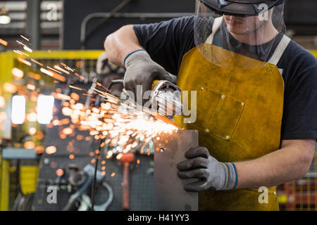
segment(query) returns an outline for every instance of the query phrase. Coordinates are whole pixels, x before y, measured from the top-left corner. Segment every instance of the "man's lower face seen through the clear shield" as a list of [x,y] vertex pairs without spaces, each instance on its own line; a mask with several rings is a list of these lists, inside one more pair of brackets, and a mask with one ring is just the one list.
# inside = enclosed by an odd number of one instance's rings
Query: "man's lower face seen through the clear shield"
[[259,16],[249,16],[243,18],[235,15],[223,15],[225,23],[227,24],[228,30],[234,34],[249,34],[266,23],[265,20],[260,20]]

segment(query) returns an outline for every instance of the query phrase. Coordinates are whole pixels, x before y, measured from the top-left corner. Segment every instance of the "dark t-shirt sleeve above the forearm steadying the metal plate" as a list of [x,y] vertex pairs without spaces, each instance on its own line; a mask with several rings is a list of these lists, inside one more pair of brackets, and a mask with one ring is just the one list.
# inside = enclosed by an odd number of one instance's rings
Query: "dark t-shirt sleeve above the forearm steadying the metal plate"
[[282,139],[317,139],[317,60],[300,48],[286,71]]

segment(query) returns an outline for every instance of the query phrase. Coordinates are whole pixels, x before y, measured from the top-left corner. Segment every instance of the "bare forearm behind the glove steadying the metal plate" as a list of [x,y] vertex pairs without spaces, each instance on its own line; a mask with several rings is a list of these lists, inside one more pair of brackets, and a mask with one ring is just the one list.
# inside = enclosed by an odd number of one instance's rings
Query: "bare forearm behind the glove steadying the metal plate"
[[314,142],[314,140],[311,141],[310,145],[303,142],[300,143],[302,146],[282,146],[280,150],[263,155],[261,158],[235,162],[238,176],[237,188],[277,186],[301,178],[311,165]]

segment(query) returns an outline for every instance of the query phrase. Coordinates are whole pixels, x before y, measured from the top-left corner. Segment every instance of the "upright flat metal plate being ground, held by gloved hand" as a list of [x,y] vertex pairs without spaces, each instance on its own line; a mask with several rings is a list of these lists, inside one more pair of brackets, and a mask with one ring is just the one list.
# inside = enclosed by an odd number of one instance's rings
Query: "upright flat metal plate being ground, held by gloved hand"
[[186,160],[189,148],[198,146],[197,130],[178,130],[161,134],[154,141],[154,210],[197,211],[198,193],[184,190],[183,184],[196,179],[181,180],[179,162]]

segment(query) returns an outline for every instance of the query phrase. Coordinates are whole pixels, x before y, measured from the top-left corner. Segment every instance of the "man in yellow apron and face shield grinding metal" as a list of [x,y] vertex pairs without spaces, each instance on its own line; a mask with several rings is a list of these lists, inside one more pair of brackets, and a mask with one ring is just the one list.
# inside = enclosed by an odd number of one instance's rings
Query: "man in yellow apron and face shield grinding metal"
[[[308,171],[317,137],[317,62],[286,37],[284,2],[201,0],[197,15],[127,25],[106,38],[125,89],[178,75],[197,91],[199,146],[178,165],[199,210],[278,210],[275,186]],[[261,200],[259,187],[268,187]]]

